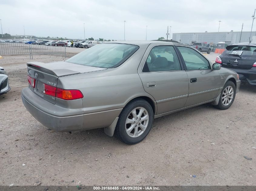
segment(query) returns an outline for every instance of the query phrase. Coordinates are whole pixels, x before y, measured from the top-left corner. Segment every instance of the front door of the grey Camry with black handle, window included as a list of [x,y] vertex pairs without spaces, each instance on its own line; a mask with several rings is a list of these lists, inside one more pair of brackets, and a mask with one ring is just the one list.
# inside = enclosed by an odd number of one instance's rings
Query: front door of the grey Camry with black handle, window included
[[185,107],[213,100],[219,91],[220,75],[210,63],[192,48],[177,46],[185,63],[189,79],[188,100]]

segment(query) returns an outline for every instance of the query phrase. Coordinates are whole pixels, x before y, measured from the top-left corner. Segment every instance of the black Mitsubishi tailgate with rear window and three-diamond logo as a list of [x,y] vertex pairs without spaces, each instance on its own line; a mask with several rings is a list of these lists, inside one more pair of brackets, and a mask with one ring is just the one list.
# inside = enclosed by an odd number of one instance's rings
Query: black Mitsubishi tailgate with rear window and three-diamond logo
[[221,60],[225,68],[251,69],[256,61],[256,46],[229,45],[221,54]]

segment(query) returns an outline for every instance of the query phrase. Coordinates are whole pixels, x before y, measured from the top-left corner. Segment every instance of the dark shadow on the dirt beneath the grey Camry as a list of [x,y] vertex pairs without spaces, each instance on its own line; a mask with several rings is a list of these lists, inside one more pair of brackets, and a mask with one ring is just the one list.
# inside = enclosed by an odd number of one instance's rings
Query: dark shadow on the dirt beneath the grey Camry
[[[179,124],[181,121],[185,123],[186,119],[191,117],[191,115],[202,116],[206,111],[218,112],[218,110],[215,109],[211,104],[204,104],[157,118],[154,120],[152,129],[148,136],[138,144],[144,144],[148,141],[155,142],[155,140],[161,139],[162,133],[165,132],[166,134],[166,131],[170,131],[171,134],[178,133],[180,128],[183,127],[178,126],[177,124]],[[41,124],[39,126],[41,126],[41,128],[45,128]],[[113,146],[118,148],[133,148],[132,145],[122,143],[115,134],[113,137],[109,137],[104,133],[103,128],[72,132],[71,134],[69,132],[48,133],[46,128],[45,130],[42,130],[41,128],[38,129],[40,132],[36,133],[34,136],[44,134],[44,138],[46,139],[45,141],[52,144],[52,148],[57,146],[59,149],[64,150],[69,148],[70,151],[76,148],[82,148],[82,150],[86,150],[86,152],[95,152],[95,148],[111,148]]]

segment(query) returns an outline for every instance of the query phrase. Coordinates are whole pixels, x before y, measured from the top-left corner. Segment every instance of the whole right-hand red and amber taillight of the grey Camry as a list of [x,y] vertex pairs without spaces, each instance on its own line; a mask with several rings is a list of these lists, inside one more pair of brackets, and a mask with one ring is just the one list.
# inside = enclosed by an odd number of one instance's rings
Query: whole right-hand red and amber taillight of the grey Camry
[[44,84],[44,94],[52,97],[57,97],[62,100],[76,100],[83,98],[83,94],[80,90],[63,90],[61,88],[56,88],[48,84]]

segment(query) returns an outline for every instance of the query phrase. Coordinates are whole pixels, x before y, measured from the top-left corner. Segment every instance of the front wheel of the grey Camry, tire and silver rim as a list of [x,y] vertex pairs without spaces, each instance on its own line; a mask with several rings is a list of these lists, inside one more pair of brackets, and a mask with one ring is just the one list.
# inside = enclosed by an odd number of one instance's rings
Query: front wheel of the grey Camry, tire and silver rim
[[236,96],[236,87],[232,81],[227,81],[221,91],[221,97],[217,107],[220,110],[228,109],[234,102]]

